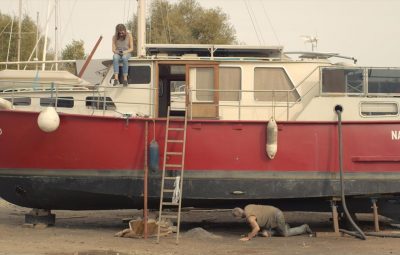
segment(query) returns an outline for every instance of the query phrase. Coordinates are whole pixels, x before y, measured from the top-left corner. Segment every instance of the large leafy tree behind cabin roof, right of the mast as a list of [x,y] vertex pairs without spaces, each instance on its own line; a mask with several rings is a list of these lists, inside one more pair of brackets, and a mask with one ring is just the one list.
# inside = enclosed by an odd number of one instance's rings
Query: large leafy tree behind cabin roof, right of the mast
[[[137,17],[127,27],[136,35]],[[236,44],[236,32],[220,8],[205,9],[196,0],[171,4],[153,1],[147,20],[148,43]]]

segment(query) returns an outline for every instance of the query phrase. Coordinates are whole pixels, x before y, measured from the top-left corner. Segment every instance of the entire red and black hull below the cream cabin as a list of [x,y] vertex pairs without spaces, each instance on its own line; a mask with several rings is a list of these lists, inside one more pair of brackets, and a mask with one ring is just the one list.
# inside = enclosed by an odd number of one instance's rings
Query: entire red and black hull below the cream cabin
[[[154,136],[151,119],[63,114],[58,130],[44,133],[37,116],[0,112],[0,196],[33,208],[142,208],[145,123],[147,140],[155,137],[162,162],[164,119],[155,121]],[[278,123],[272,160],[265,152],[266,124],[189,121],[183,205],[230,207],[289,199],[291,209],[329,210],[326,199],[340,194],[337,124]],[[343,124],[346,194],[400,194],[397,130],[400,122]],[[150,171],[148,183],[149,205],[157,208],[160,171]],[[363,205],[357,211],[370,209]]]

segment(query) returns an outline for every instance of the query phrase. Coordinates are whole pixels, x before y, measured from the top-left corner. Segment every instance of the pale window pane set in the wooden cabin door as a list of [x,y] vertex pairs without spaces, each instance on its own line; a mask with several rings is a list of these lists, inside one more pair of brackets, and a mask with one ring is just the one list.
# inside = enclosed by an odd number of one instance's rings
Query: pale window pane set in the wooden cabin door
[[214,68],[196,68],[196,99],[199,101],[214,100]]

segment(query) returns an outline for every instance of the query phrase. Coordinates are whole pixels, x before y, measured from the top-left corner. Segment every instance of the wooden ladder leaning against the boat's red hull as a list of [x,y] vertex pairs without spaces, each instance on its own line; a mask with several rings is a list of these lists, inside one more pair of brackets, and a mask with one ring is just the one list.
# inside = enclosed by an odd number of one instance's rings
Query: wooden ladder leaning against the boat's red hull
[[[185,165],[187,109],[185,108],[184,117],[176,117],[171,116],[171,107],[168,107],[166,125],[157,243],[160,242],[161,222],[165,219],[176,219],[176,244],[178,244],[181,221],[183,172]],[[172,146],[173,144],[178,145]],[[167,158],[169,158],[168,161],[172,161],[172,163],[168,163]],[[166,172],[169,174],[166,175]],[[171,176],[172,173],[175,173],[175,176]],[[166,196],[166,194],[172,196]],[[166,197],[169,198],[170,201],[166,201]],[[164,211],[164,206],[168,208],[177,207],[177,210],[176,212],[166,212]]]

